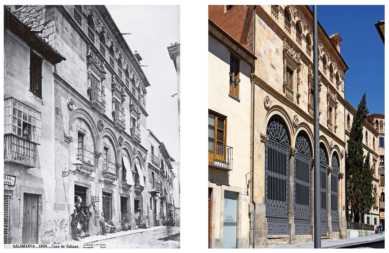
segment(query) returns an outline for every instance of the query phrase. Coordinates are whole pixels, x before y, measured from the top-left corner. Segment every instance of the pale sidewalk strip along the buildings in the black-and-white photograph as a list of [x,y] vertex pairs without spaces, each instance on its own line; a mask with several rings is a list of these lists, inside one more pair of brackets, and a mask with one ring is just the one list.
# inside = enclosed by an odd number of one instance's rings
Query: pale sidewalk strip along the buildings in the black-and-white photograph
[[138,228],[134,230],[127,230],[127,231],[120,231],[112,234],[107,234],[107,235],[92,235],[89,237],[85,237],[84,239],[81,239],[80,241],[67,241],[67,242],[62,242],[61,244],[58,245],[67,245],[71,244],[72,246],[79,246],[79,248],[82,248],[84,244],[90,244],[93,242],[98,242],[110,238],[115,238],[115,237],[121,237],[124,235],[130,235],[130,234],[137,234],[137,233],[143,233],[147,231],[152,231],[152,230],[165,230],[167,229],[168,226],[156,226],[156,227],[151,227],[151,228]]

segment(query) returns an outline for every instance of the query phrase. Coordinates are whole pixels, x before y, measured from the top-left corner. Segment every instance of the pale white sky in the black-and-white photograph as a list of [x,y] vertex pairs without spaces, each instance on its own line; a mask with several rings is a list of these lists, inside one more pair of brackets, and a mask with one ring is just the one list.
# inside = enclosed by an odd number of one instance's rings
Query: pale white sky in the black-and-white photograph
[[167,46],[180,43],[179,5],[106,5],[112,18],[141,65],[151,86],[147,88],[146,128],[163,142],[179,161],[177,73]]

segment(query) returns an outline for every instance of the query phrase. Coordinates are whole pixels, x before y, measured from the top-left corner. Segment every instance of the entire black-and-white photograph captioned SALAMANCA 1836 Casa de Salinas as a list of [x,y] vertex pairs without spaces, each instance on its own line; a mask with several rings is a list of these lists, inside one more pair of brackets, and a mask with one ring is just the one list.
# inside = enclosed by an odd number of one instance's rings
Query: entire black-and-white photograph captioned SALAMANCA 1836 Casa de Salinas
[[179,119],[179,5],[4,5],[4,248],[180,248]]

